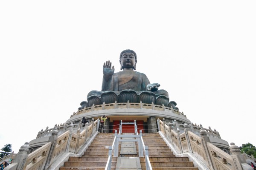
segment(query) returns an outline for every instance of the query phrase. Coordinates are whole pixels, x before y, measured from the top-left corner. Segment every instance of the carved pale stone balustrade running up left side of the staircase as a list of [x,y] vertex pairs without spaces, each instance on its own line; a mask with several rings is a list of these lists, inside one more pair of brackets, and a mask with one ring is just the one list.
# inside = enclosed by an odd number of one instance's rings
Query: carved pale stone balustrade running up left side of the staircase
[[[49,141],[32,153],[29,153],[29,143],[26,142],[20,147],[13,164],[6,167],[6,170],[45,170],[64,153],[78,153],[82,146],[97,133],[99,120],[92,119],[90,125],[85,124],[84,130],[80,130],[81,122],[74,127],[73,123],[65,125],[66,132],[58,135],[58,128],[47,130],[41,135],[51,132]],[[78,127],[78,128],[77,128]],[[76,132],[74,132],[76,129]],[[39,135],[40,136],[40,135]],[[29,153],[29,154],[28,154]]]

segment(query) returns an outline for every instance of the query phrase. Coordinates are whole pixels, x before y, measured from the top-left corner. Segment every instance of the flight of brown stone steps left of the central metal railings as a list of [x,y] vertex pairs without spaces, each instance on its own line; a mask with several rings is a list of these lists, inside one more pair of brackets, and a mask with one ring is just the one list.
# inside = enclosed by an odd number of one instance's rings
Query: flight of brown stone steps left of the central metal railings
[[[113,144],[113,133],[99,133],[81,157],[70,157],[59,170],[105,170],[108,146]],[[119,149],[120,150],[120,149]],[[112,159],[111,170],[116,169],[117,157]]]

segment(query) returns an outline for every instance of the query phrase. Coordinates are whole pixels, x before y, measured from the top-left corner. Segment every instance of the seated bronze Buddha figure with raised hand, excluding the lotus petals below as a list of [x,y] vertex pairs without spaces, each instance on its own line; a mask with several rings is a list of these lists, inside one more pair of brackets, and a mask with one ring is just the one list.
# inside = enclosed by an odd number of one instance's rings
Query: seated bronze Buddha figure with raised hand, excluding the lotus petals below
[[103,65],[102,91],[90,91],[87,98],[96,95],[101,96],[105,91],[114,91],[119,94],[122,90],[134,90],[137,94],[142,91],[151,91],[155,96],[164,95],[169,97],[165,90],[158,90],[160,84],[150,84],[148,77],[136,70],[137,55],[132,50],[124,50],[120,54],[119,62],[121,70],[114,73],[115,68],[110,61],[106,61]]

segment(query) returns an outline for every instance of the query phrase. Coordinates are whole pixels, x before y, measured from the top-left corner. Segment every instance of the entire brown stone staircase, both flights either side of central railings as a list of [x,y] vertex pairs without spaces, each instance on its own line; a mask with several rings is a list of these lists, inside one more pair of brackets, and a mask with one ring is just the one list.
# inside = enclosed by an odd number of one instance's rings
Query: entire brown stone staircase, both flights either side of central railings
[[[113,144],[113,133],[99,133],[81,157],[70,157],[59,170],[105,170],[108,146]],[[144,133],[148,155],[153,170],[198,170],[187,157],[176,157],[158,133]],[[121,142],[119,142],[120,156]],[[138,150],[137,142],[136,148]],[[136,155],[124,155],[133,157]],[[123,156],[123,157],[124,157]],[[138,155],[137,155],[138,156]],[[111,170],[116,169],[117,157],[113,157]],[[140,158],[141,170],[146,170],[145,158]]]

